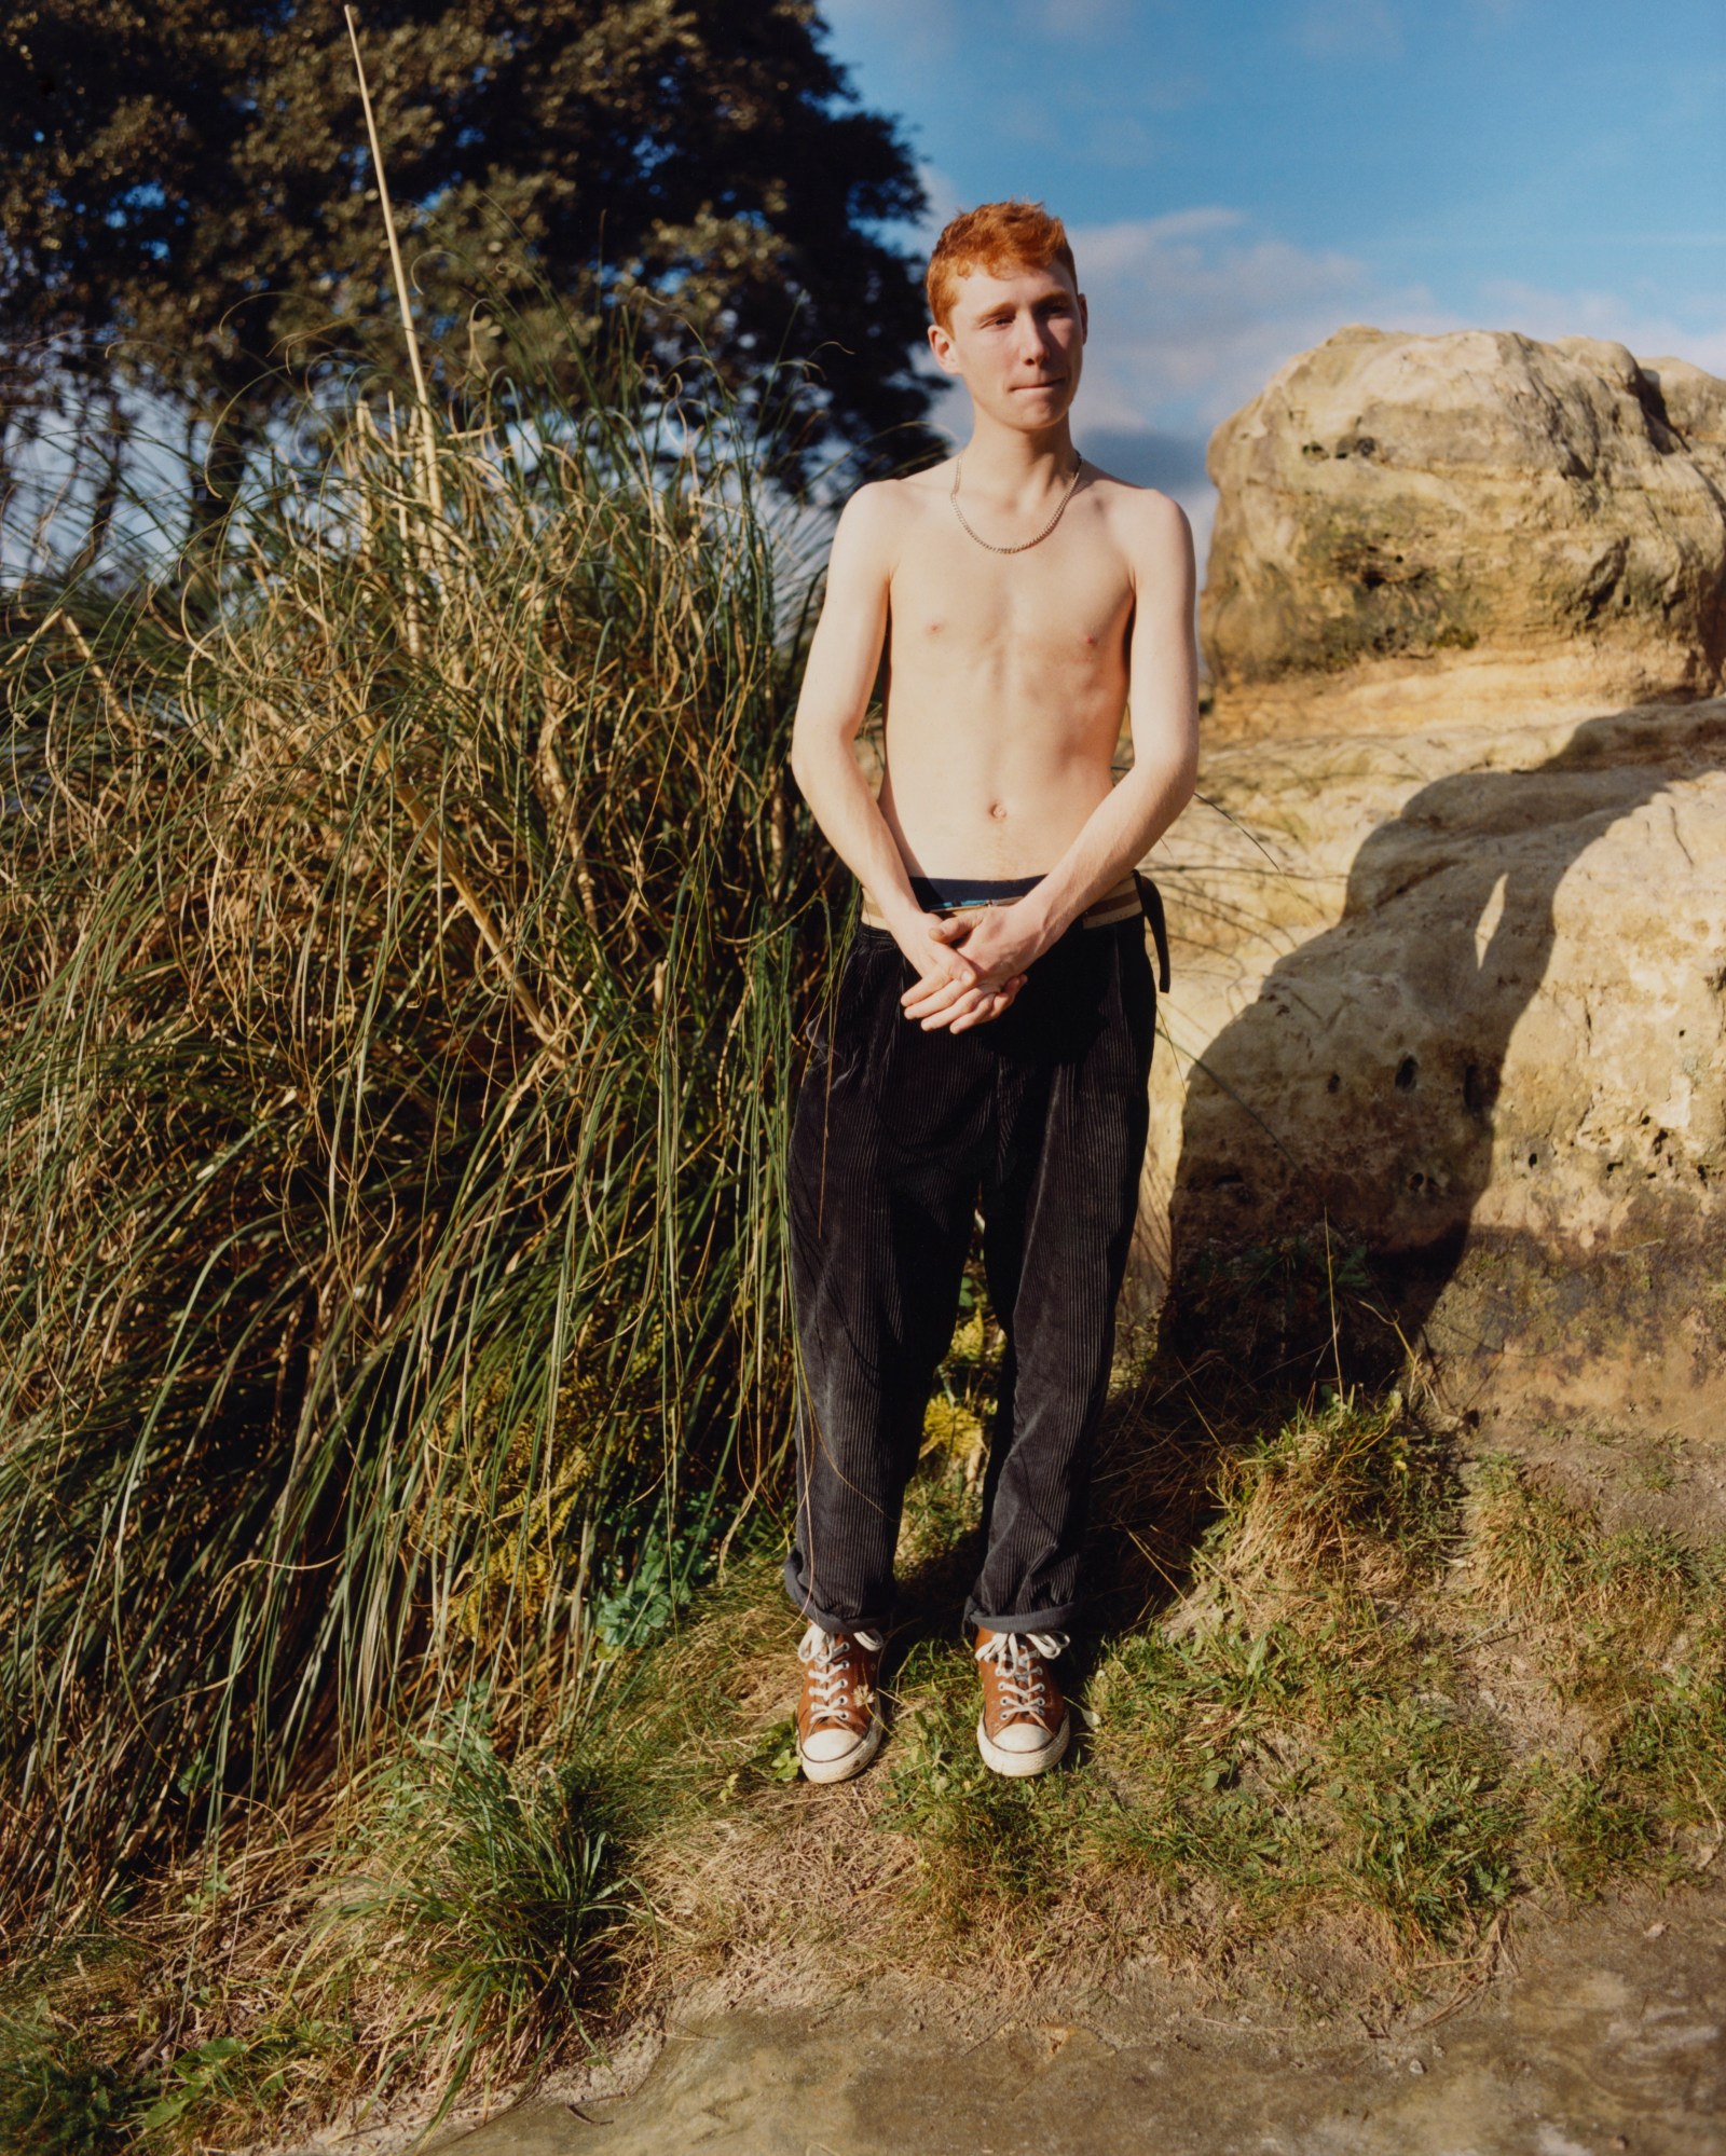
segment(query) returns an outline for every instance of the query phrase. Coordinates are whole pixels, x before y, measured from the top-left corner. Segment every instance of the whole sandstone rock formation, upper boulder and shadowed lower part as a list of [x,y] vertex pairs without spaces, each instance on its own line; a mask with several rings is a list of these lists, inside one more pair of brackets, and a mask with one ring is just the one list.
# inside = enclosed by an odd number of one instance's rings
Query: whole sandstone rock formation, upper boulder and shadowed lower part
[[1726,1423],[1726,384],[1342,330],[1213,472],[1141,1289],[1329,1222],[1452,1371]]

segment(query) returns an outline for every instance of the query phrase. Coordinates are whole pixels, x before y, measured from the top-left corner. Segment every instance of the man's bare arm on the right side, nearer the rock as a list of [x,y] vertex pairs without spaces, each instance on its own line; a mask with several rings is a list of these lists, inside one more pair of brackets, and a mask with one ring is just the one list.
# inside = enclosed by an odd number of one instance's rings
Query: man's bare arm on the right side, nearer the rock
[[[1128,724],[1133,770],[1085,817],[1072,845],[1036,890],[1016,906],[990,910],[964,938],[988,990],[1023,975],[1066,929],[1137,867],[1193,798],[1200,752],[1197,651],[1193,649],[1193,533],[1176,502],[1161,494],[1133,505],[1131,561],[1135,580],[1128,647]],[[906,1013],[947,1024],[962,994],[919,983]]]

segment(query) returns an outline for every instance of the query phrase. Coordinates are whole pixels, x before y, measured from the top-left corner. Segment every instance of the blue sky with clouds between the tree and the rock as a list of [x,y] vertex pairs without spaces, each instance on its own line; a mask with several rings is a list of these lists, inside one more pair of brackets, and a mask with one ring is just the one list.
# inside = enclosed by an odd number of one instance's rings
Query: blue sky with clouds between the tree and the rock
[[1066,218],[1092,302],[1077,438],[1206,524],[1210,429],[1348,321],[1612,336],[1726,373],[1722,0],[822,15],[936,222],[1003,194]]

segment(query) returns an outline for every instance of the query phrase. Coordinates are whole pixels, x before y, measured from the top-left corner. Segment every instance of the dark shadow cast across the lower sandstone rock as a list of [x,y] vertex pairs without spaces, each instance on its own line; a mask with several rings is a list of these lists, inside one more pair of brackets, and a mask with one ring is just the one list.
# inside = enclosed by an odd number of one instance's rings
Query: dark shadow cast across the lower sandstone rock
[[[1458,1315],[1446,1296],[1465,1257],[1478,1274],[1504,1259],[1474,1235],[1495,1162],[1547,1166],[1551,1136],[1515,1128],[1504,1063],[1547,977],[1558,888],[1674,776],[1722,765],[1713,703],[1590,718],[1538,765],[1420,787],[1361,843],[1335,927],[1282,957],[1193,1065],[1156,1358],[1105,1440],[1111,1617],[1178,1583],[1217,1453],[1249,1434],[1243,1406],[1264,1427],[1327,1380],[1385,1378],[1433,1345],[1435,1313],[1448,1358],[1502,1348],[1515,1266],[1497,1307],[1471,1291]],[[1562,1274],[1549,1326],[1599,1291]]]

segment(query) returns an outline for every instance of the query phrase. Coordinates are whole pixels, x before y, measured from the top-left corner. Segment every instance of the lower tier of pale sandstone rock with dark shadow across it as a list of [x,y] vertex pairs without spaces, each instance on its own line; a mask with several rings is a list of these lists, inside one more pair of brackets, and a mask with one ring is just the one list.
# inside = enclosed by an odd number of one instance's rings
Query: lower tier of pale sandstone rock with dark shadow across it
[[1230,744],[1204,791],[1236,821],[1189,811],[1156,871],[1150,1276],[1329,1220],[1441,1356],[1707,1382],[1726,701]]

